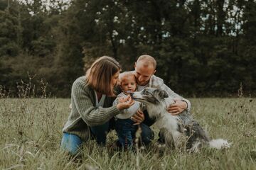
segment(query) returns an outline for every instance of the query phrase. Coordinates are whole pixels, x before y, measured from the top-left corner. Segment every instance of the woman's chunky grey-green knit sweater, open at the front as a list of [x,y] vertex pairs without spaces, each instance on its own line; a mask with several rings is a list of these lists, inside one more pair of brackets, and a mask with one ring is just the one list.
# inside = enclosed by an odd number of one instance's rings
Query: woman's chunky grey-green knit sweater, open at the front
[[114,97],[106,96],[104,106],[96,108],[94,89],[87,85],[85,76],[75,80],[71,91],[72,110],[63,132],[78,135],[83,141],[90,138],[89,126],[102,125],[119,114],[117,106],[112,106]]

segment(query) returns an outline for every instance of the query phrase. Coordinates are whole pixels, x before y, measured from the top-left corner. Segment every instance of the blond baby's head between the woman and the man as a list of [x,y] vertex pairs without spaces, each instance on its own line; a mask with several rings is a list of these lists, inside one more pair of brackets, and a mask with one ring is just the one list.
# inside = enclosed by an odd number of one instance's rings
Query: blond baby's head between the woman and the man
[[119,74],[120,87],[122,91],[134,92],[137,88],[136,79],[132,72],[123,72]]

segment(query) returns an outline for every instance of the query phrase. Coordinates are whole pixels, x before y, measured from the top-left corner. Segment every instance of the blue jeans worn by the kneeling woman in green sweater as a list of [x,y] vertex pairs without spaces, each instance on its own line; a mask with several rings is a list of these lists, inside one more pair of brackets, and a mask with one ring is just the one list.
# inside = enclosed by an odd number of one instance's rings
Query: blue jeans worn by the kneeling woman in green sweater
[[[90,127],[92,138],[95,138],[97,144],[106,144],[107,132],[110,131],[109,126],[110,122],[107,122],[103,125]],[[82,147],[83,142],[85,141],[82,141],[82,139],[78,137],[78,135],[63,132],[61,148],[63,148],[65,151],[68,151],[70,154],[75,155],[80,150],[80,147]]]

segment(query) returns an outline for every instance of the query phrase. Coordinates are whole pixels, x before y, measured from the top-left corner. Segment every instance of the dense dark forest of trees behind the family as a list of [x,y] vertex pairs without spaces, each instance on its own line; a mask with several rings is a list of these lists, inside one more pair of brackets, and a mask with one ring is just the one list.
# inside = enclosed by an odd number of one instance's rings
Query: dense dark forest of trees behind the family
[[255,96],[256,1],[0,0],[0,91],[10,96],[32,82],[69,97],[95,58],[132,70],[142,54],[183,96]]

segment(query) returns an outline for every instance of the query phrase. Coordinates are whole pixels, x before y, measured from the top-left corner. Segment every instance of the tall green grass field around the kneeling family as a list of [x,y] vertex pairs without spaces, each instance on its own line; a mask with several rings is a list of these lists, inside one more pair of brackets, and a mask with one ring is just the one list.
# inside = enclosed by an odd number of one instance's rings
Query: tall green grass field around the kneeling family
[[[256,99],[191,98],[192,114],[230,149],[188,154],[159,149],[155,138],[139,152],[114,152],[86,142],[80,161],[60,150],[69,99],[0,99],[0,169],[256,169]],[[110,132],[107,145],[117,139]]]

